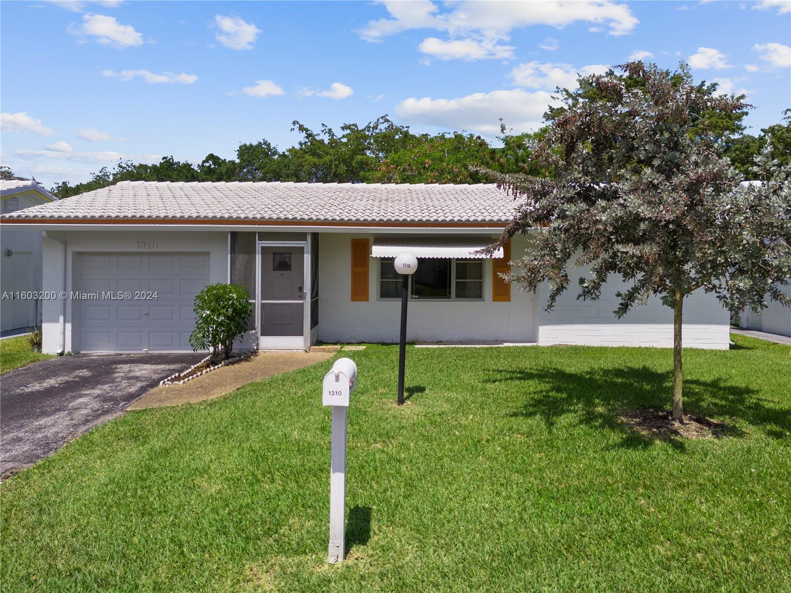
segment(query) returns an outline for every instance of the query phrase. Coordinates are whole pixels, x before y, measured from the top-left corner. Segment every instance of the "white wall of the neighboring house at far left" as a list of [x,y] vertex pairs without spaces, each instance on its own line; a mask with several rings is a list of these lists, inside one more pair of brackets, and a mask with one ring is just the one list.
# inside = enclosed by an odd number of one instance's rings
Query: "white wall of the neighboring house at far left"
[[[47,202],[37,191],[25,191],[10,197],[17,198],[17,210]],[[6,213],[6,199],[2,200],[2,213]],[[13,251],[14,255],[7,256],[8,249]],[[14,266],[15,258],[24,258],[25,263],[22,266]],[[41,231],[9,229],[7,225],[0,227],[0,295],[22,290],[39,292],[42,278],[41,265]],[[41,312],[39,312],[40,316]],[[23,318],[25,320],[20,321]],[[32,300],[13,304],[9,300],[3,300],[0,302],[0,319],[2,319],[0,330],[17,329],[37,323],[36,304]]]

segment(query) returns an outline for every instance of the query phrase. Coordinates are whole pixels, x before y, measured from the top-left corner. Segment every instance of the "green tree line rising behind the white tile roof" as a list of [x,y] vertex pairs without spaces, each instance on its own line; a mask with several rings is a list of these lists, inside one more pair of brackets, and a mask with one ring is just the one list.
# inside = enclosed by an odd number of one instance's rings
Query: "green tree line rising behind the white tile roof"
[[[574,101],[596,97],[598,90],[586,88],[558,90]],[[642,81],[626,76],[625,88],[639,89]],[[702,82],[702,93],[714,95],[717,85]],[[596,97],[598,98],[598,97]],[[736,99],[744,100],[744,96]],[[607,100],[602,97],[601,100]],[[781,164],[791,161],[791,109],[784,112],[782,123],[763,128],[758,135],[745,134],[744,110],[733,113],[705,111],[694,114],[707,134],[715,130],[725,142],[725,155],[734,167],[751,179],[753,159],[760,153],[766,138],[771,138],[772,157]],[[551,125],[566,108],[550,108],[544,115]],[[224,159],[210,153],[199,164],[163,157],[157,164],[119,161],[112,169],[104,167],[85,183],[57,183],[52,193],[67,198],[85,191],[107,187],[119,181],[293,181],[324,183],[483,183],[481,171],[505,175],[551,176],[542,171],[531,157],[528,145],[546,134],[547,128],[532,134],[513,134],[501,124],[497,145],[469,133],[414,134],[408,126],[399,126],[388,115],[360,127],[346,123],[336,132],[322,125],[311,130],[294,121],[292,131],[301,135],[295,146],[280,150],[266,139],[240,144],[236,159]],[[692,134],[694,134],[694,130]]]

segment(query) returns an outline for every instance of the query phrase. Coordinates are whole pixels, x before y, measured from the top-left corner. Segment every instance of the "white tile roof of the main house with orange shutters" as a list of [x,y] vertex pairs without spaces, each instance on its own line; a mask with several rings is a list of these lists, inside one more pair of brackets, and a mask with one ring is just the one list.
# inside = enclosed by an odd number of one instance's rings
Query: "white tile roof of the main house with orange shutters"
[[3,218],[501,223],[515,207],[494,184],[122,181]]

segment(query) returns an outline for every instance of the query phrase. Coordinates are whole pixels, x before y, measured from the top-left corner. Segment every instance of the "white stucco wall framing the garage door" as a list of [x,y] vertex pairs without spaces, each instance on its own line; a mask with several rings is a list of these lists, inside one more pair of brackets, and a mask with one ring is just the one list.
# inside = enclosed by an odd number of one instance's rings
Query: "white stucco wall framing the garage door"
[[[228,281],[228,233],[190,232],[190,231],[142,231],[142,232],[106,232],[106,231],[51,231],[49,236],[57,236],[66,240],[66,293],[78,290],[76,265],[79,255],[85,252],[165,252],[165,251],[208,251],[210,253],[210,282]],[[157,243],[156,249],[139,248],[138,243]],[[59,293],[64,290],[63,259],[61,244],[51,238],[44,239],[44,292]],[[74,310],[73,305],[74,304]],[[77,304],[66,300],[66,352],[78,351],[76,340],[78,331],[73,327],[72,320]],[[44,301],[44,352],[56,353],[60,349],[59,318],[61,301]]]

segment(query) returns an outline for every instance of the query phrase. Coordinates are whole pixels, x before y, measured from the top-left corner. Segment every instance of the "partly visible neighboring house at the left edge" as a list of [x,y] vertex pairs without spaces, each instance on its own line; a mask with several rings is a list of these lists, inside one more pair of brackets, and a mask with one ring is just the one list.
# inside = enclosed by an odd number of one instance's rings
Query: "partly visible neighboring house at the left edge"
[[[58,198],[37,181],[0,180],[0,213],[9,214],[54,202]],[[26,228],[0,232],[0,296],[41,290],[41,232]],[[39,313],[40,316],[40,313]],[[36,301],[30,298],[0,300],[0,330],[31,327],[36,319]]]

